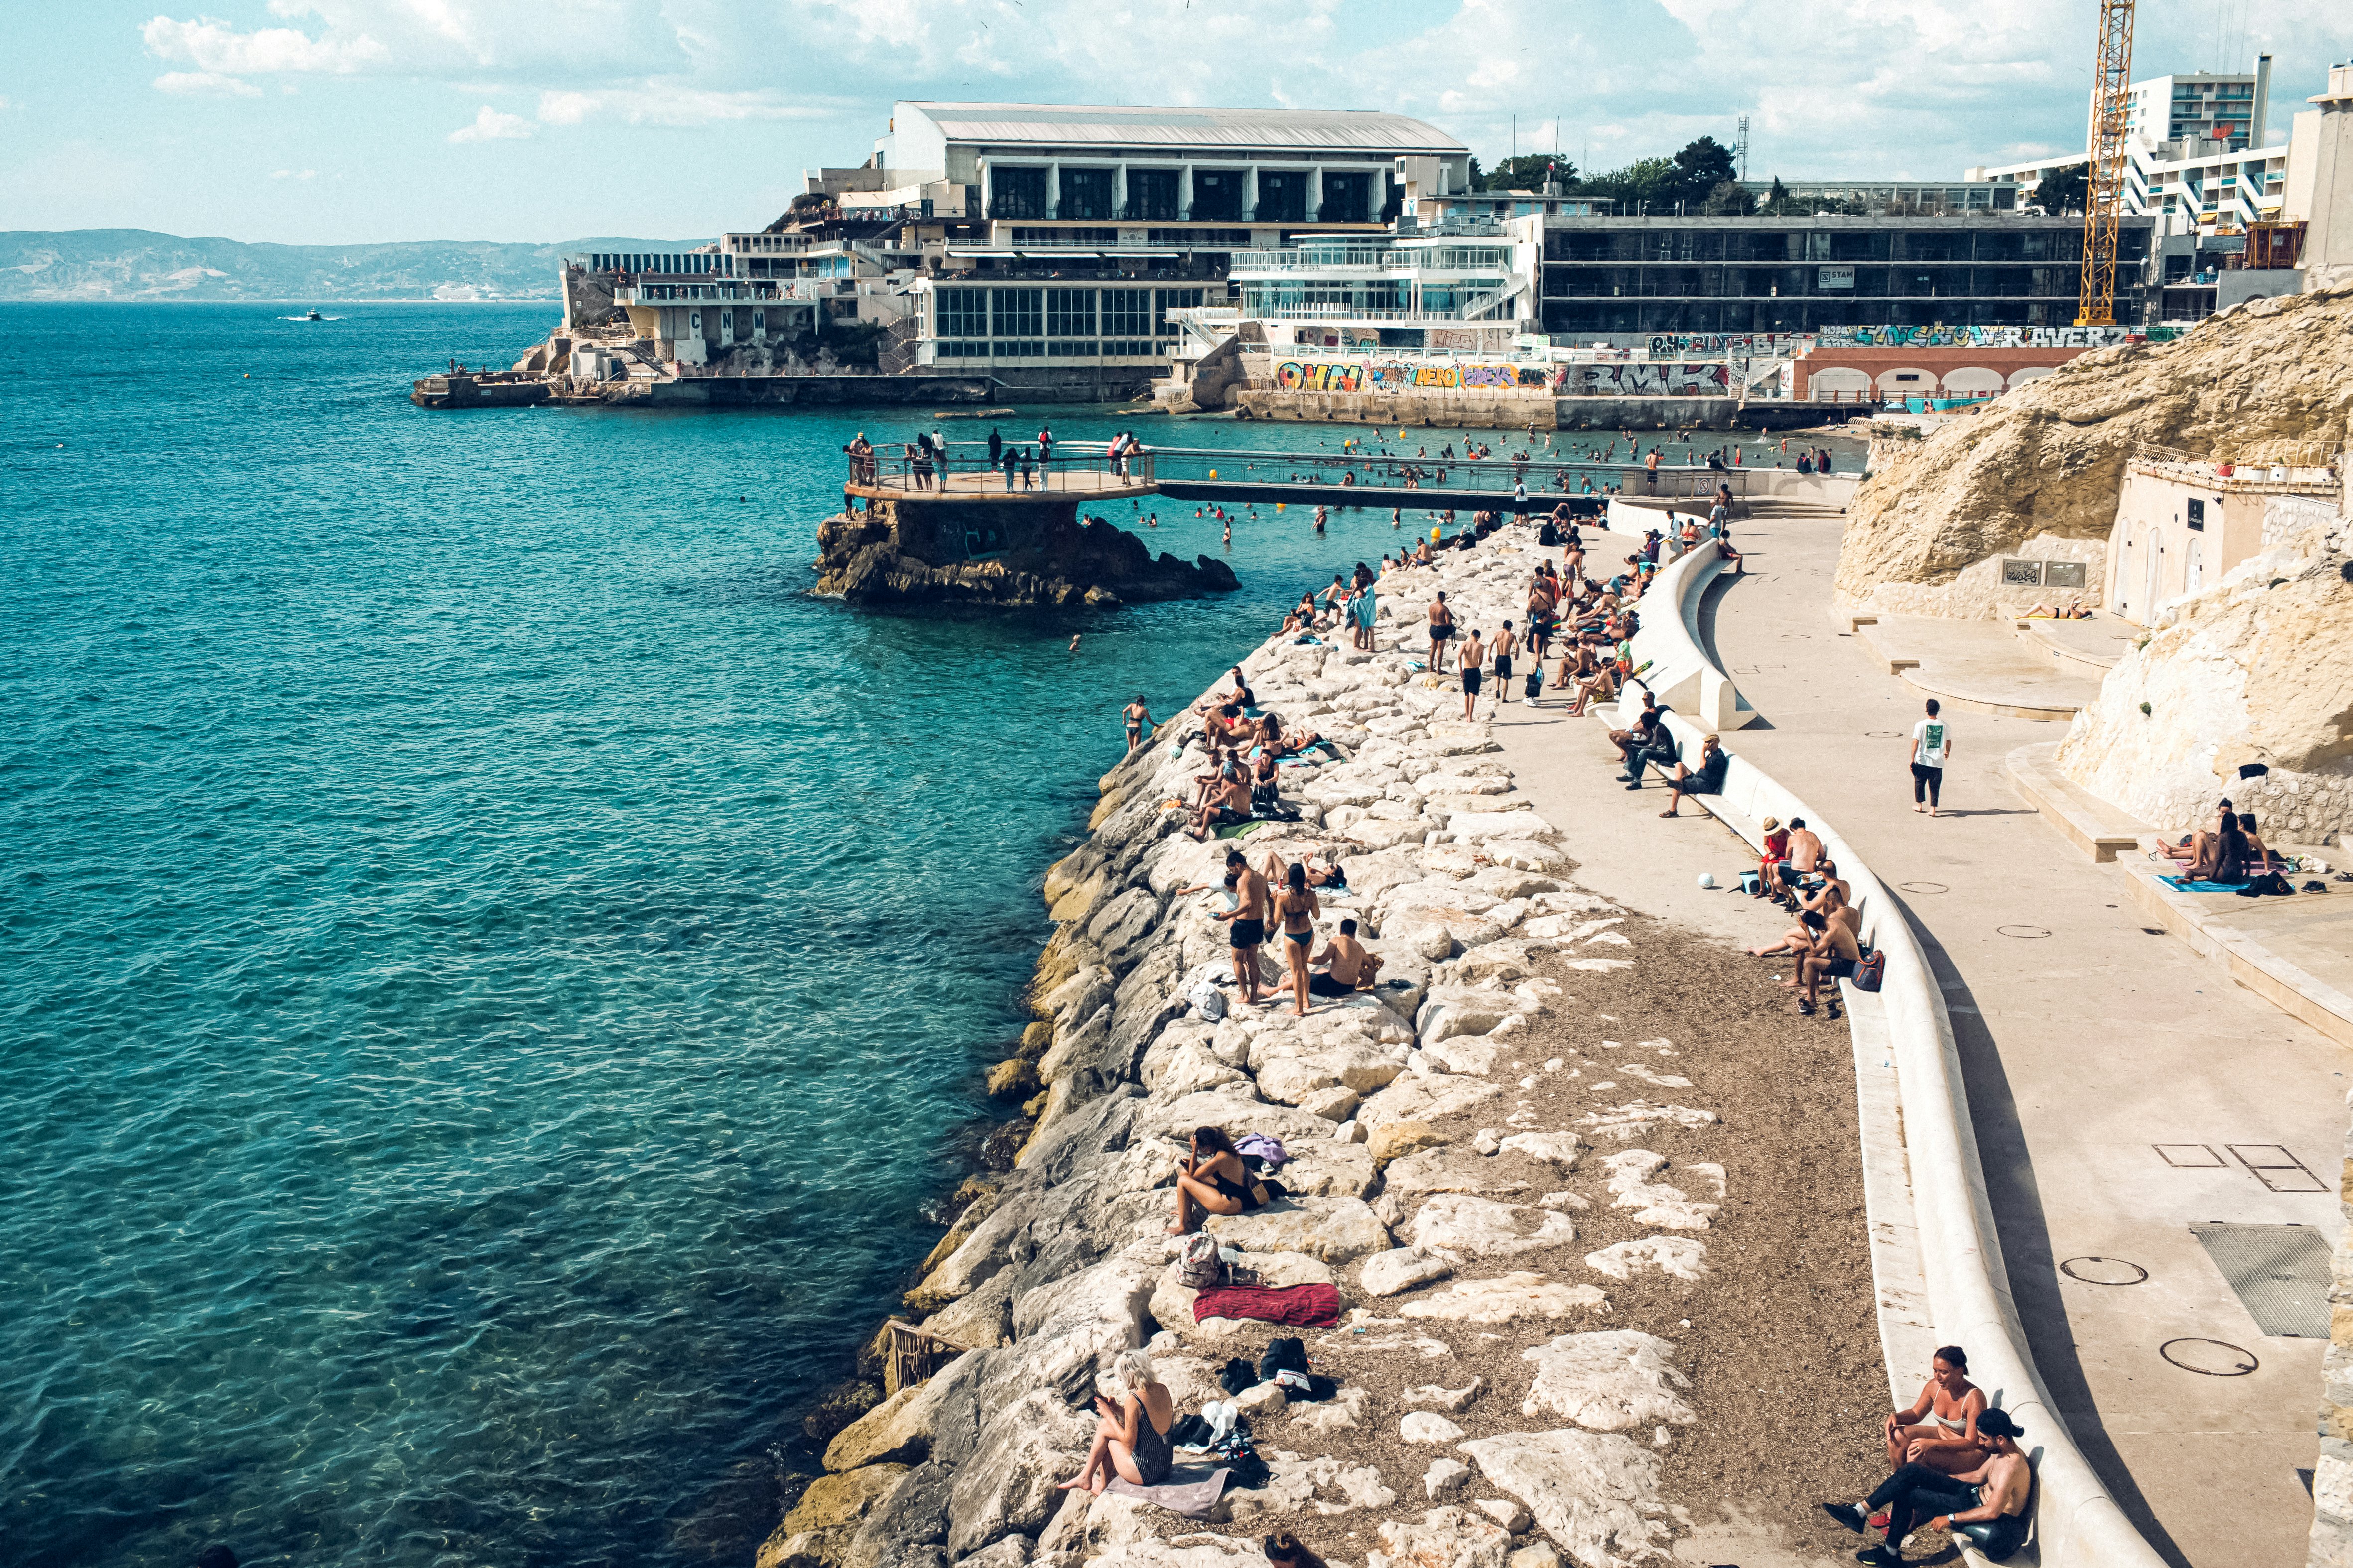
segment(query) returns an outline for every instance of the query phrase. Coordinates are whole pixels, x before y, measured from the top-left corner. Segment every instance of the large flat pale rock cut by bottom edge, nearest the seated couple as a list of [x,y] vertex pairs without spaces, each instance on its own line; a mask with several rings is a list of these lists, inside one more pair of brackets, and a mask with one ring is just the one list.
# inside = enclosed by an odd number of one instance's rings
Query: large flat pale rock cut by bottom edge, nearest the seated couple
[[1457,1450],[1471,1455],[1489,1486],[1525,1502],[1584,1568],[1654,1561],[1673,1537],[1659,1500],[1659,1458],[1617,1432],[1508,1432]]

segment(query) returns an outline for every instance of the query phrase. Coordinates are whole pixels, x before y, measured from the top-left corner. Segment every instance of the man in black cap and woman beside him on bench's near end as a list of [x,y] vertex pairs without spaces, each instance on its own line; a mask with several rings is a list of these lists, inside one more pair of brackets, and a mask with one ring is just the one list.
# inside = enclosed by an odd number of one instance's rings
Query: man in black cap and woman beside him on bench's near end
[[2026,1429],[1969,1382],[1960,1345],[1934,1354],[1920,1399],[1889,1410],[1880,1434],[1887,1481],[1861,1502],[1821,1505],[1857,1535],[1882,1530],[1880,1544],[1859,1552],[1857,1561],[1897,1568],[1913,1530],[1967,1533],[1995,1563],[2026,1544],[2035,1490],[2033,1467],[2019,1448]]

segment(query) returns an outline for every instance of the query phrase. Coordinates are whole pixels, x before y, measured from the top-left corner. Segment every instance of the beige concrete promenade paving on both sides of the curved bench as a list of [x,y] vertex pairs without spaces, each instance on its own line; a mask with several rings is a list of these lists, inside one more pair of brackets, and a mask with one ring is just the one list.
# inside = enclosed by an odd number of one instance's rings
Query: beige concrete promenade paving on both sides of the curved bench
[[[2311,1225],[2334,1246],[2353,1051],[2148,933],[2125,870],[2089,863],[2019,799],[2002,757],[2059,724],[1958,715],[1946,816],[1911,811],[1922,693],[1833,628],[1838,529],[1739,529],[1748,576],[1722,581],[1701,632],[1760,722],[1725,745],[1828,813],[1908,900],[1960,1046],[2009,1288],[2104,1483],[2169,1561],[2301,1561],[2325,1340],[2266,1338],[2188,1227]],[[1579,879],[1706,931],[1777,936],[1777,910],[1694,886],[1701,870],[1729,882],[1746,846],[1694,809],[1659,820],[1666,790],[1614,783],[1605,729],[1520,705],[1497,726],[1520,788],[1581,856]],[[2320,1192],[2275,1192],[2228,1145],[2287,1147]],[[2224,1347],[2259,1366],[2214,1375],[2242,1363]]]

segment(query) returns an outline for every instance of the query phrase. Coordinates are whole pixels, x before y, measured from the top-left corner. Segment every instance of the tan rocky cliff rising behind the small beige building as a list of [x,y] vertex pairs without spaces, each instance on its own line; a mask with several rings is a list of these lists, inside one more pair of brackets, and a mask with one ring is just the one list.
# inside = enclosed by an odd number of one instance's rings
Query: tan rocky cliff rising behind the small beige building
[[2353,287],[2254,301],[2172,343],[2087,353],[1925,442],[1875,447],[1847,505],[1840,607],[2024,609],[2042,590],[2005,597],[1998,555],[2082,559],[2097,585],[2139,442],[2240,463],[2341,451],[2353,442]]

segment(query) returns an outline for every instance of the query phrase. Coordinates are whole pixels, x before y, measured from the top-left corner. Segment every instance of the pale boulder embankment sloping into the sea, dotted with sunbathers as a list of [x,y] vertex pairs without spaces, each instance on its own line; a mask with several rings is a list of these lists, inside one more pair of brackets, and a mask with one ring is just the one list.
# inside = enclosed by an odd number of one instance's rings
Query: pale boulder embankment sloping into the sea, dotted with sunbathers
[[[991,1077],[1000,1093],[1035,1088],[1033,1128],[1009,1173],[967,1182],[906,1295],[908,1321],[967,1349],[831,1439],[828,1474],[760,1568],[1264,1568],[1266,1528],[1301,1530],[1334,1568],[1355,1554],[1367,1568],[1617,1568],[1692,1533],[1673,1472],[1708,1453],[1692,1427],[1704,1410],[1715,1422],[1715,1401],[1694,1389],[1718,1382],[1694,1319],[1755,1288],[1739,1272],[1718,1284],[1708,1258],[1753,1206],[1727,1197],[1725,1128],[1694,1103],[1689,1044],[1595,1011],[1607,987],[1626,992],[1642,922],[1569,882],[1560,832],[1515,788],[1492,726],[1459,722],[1459,684],[1395,646],[1435,588],[1464,625],[1518,618],[1537,552],[1515,534],[1393,576],[1379,654],[1278,637],[1242,661],[1264,708],[1346,759],[1287,769],[1301,820],[1240,849],[1346,863],[1351,891],[1325,900],[1322,924],[1353,914],[1374,933],[1377,992],[1306,1018],[1287,1001],[1195,1016],[1195,985],[1228,973],[1226,933],[1176,889],[1214,884],[1233,846],[1179,830],[1172,802],[1202,752],[1162,736],[1104,776],[1092,837],[1045,879],[1056,931],[1035,1023]],[[1586,983],[1595,994],[1574,1011],[1567,987]],[[1842,1032],[1833,1046],[1835,1065]],[[1268,1284],[1334,1284],[1346,1316],[1304,1331],[1339,1396],[1240,1394],[1271,1476],[1193,1521],[1054,1483],[1075,1474],[1120,1352],[1146,1347],[1188,1413],[1228,1399],[1228,1356],[1292,1333],[1195,1321],[1176,1281],[1162,1182],[1202,1124],[1292,1154],[1289,1199],[1209,1229]],[[1861,1258],[1859,1197],[1828,1199],[1824,1218],[1831,1246]],[[1802,1314],[1814,1284],[1784,1286]],[[1845,1338],[1805,1352],[1840,1363],[1812,1403],[1885,1387],[1868,1265],[1857,1302],[1824,1305]],[[1734,1373],[1734,1399],[1755,1375]]]

